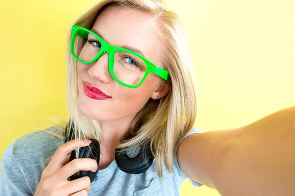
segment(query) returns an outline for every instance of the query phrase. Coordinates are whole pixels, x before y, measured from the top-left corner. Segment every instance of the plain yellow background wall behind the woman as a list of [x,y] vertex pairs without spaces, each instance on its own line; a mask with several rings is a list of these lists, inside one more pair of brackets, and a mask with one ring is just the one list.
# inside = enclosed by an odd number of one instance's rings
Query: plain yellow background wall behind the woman
[[[95,0],[0,3],[0,156],[17,137],[66,119],[66,30]],[[294,0],[166,0],[182,19],[198,82],[195,125],[252,123],[295,103]],[[250,187],[249,187],[250,188]],[[219,196],[185,180],[181,196]]]

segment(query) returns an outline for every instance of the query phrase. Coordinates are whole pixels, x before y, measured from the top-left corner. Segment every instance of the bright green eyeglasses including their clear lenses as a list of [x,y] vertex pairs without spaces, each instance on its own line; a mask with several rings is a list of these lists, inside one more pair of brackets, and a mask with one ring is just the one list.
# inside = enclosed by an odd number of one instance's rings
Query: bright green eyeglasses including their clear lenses
[[109,71],[112,77],[123,86],[137,88],[149,73],[165,80],[170,78],[166,70],[157,67],[142,55],[129,49],[111,46],[91,30],[73,25],[71,53],[78,61],[92,63],[105,51],[109,53]]

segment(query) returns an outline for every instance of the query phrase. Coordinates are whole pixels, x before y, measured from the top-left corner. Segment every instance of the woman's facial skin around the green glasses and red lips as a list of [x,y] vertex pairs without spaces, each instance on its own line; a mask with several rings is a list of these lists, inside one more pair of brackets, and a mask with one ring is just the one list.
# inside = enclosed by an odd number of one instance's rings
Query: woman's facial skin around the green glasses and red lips
[[[116,47],[139,49],[158,67],[162,67],[157,47],[155,22],[147,14],[127,8],[107,8],[97,17],[93,29],[103,39]],[[163,97],[157,91],[160,77],[150,73],[138,88],[125,87],[115,81],[108,68],[109,54],[105,52],[96,62],[84,64],[78,61],[78,109],[89,119],[132,121],[149,98]],[[84,92],[84,82],[90,83],[111,98],[93,99]]]

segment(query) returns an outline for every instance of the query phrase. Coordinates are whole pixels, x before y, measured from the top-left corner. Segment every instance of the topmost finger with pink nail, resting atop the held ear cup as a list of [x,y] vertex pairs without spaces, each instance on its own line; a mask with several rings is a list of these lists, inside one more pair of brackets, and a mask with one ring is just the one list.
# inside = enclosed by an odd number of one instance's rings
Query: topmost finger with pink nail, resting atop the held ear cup
[[[91,142],[90,142],[91,143]],[[49,171],[57,172],[60,170],[61,164],[64,162],[66,156],[77,147],[86,147],[90,143],[85,139],[75,139],[60,145],[49,162],[47,168]]]

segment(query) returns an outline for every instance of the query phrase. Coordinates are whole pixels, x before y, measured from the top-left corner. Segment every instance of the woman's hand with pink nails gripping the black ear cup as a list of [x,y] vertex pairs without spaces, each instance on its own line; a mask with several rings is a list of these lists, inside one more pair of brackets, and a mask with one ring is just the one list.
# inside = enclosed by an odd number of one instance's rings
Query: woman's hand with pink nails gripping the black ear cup
[[67,180],[78,171],[95,172],[98,169],[97,162],[90,158],[77,158],[69,162],[70,152],[75,149],[75,141],[78,143],[78,140],[80,147],[91,143],[85,139],[76,139],[59,146],[43,170],[34,196],[88,196],[91,187],[88,176]]

